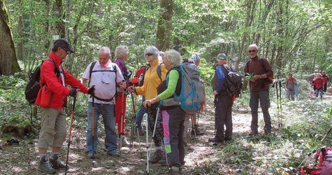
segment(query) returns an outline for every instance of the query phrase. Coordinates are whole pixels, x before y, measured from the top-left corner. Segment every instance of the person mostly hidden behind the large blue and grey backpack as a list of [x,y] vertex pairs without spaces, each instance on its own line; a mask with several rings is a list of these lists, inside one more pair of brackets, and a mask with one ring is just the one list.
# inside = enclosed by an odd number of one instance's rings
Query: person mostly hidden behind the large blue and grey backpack
[[[184,62],[189,62],[189,63],[193,63],[196,66],[199,66],[199,62],[200,62],[200,57],[197,54],[192,55],[192,57],[185,59]],[[188,132],[188,128],[189,128],[189,119],[192,117],[192,135],[196,136],[201,136],[204,135],[204,132],[201,131],[201,128],[199,127],[199,124],[197,123],[197,114],[189,114],[187,113],[186,115],[186,120],[185,120],[185,132],[183,134],[183,137],[187,137],[187,132]]]

